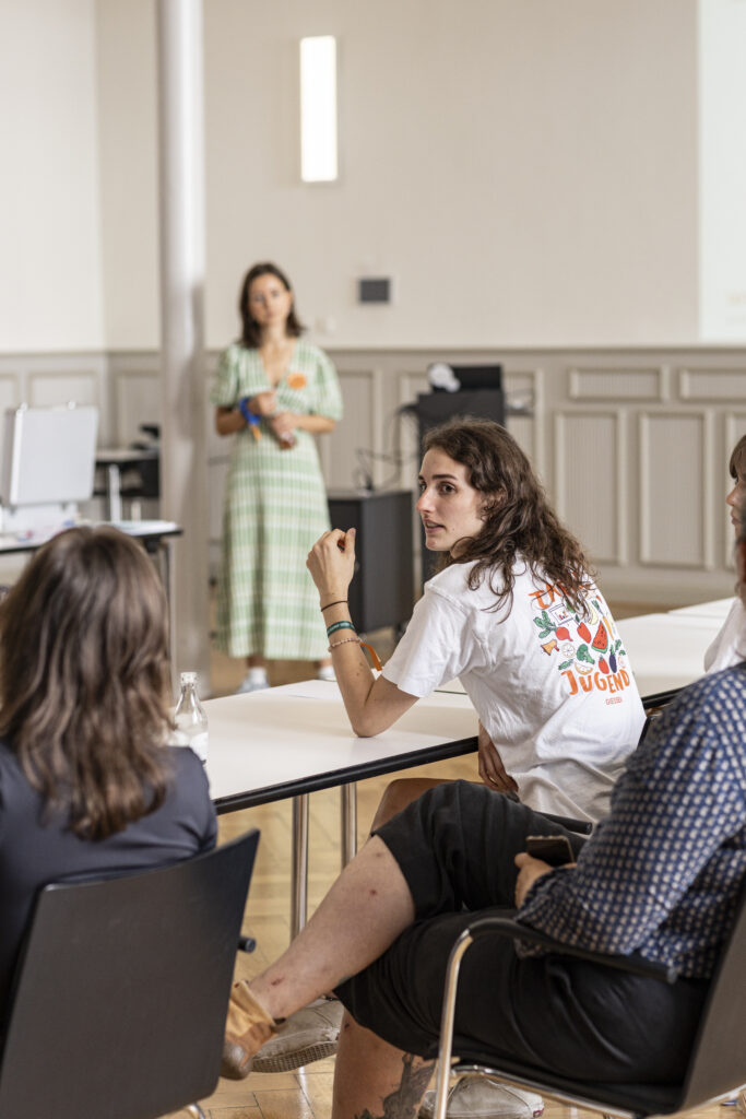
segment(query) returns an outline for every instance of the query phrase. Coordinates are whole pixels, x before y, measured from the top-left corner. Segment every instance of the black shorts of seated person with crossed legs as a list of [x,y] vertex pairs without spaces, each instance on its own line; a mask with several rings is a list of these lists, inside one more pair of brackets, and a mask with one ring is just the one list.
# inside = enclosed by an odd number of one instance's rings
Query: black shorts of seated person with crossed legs
[[[353,1018],[405,1052],[437,1053],[443,984],[459,933],[475,915],[514,905],[514,856],[527,835],[578,836],[483,786],[445,782],[378,835],[415,903],[415,923],[370,967],[338,988]],[[520,959],[512,940],[487,937],[463,957],[454,1053],[488,1051],[584,1080],[680,1079],[707,982],[654,979],[573,960]]]

